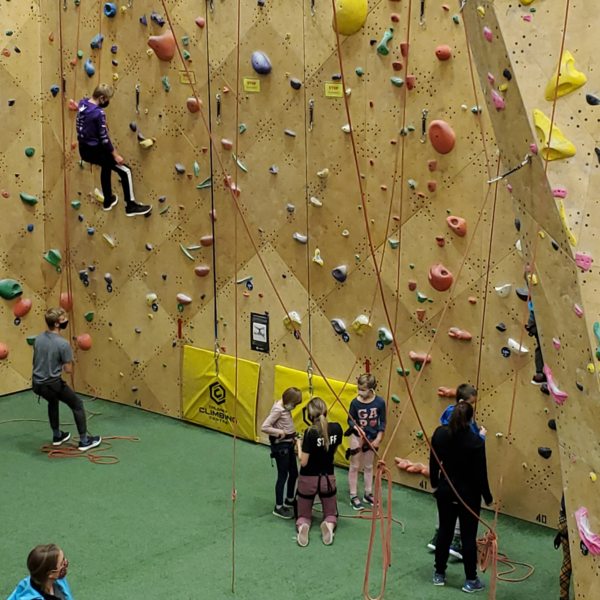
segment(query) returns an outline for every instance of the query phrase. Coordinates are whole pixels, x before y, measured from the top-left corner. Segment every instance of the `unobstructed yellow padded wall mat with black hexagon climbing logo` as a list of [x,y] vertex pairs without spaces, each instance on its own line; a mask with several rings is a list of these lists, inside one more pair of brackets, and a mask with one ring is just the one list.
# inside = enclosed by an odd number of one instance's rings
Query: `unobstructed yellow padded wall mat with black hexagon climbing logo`
[[[260,365],[238,359],[237,435],[257,441],[256,398]],[[188,421],[233,435],[235,414],[235,358],[185,346],[183,350],[183,416]]]

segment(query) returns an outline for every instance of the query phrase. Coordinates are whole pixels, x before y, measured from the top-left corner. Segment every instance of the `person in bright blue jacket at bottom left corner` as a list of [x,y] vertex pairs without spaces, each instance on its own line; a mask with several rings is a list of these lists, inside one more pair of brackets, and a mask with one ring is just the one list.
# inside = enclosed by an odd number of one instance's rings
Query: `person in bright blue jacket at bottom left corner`
[[67,583],[69,561],[56,544],[36,546],[27,557],[29,577],[8,600],[73,600]]

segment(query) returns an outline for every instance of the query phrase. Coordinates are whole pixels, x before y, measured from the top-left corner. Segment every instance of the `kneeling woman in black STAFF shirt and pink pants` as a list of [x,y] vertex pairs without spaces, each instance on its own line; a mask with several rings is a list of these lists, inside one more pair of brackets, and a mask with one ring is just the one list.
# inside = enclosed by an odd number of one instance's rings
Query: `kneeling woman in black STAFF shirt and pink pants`
[[298,545],[308,545],[308,532],[312,520],[312,507],[319,496],[323,507],[321,532],[323,543],[333,543],[337,523],[337,488],[333,474],[333,458],[342,443],[343,431],[339,423],[327,421],[327,405],[321,398],[313,398],[306,406],[308,420],[312,423],[302,440],[297,441],[300,459],[298,478]]

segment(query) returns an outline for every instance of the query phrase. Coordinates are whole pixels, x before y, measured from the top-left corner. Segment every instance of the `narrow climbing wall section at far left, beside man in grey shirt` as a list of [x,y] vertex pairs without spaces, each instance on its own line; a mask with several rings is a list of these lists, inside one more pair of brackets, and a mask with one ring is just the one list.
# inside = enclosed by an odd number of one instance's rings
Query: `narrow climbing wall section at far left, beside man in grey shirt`
[[[0,7],[3,27],[0,53],[0,280],[16,281],[22,297],[31,300],[28,314],[15,305],[19,297],[0,300],[0,344],[8,356],[0,360],[1,391],[8,394],[30,387],[29,335],[44,327],[45,277],[49,263],[45,254],[45,215],[42,201],[35,205],[20,199],[24,193],[41,200],[42,195],[42,98],[40,89],[40,33],[38,2],[4,2]],[[49,92],[48,92],[49,93]],[[30,149],[27,154],[26,150]]]

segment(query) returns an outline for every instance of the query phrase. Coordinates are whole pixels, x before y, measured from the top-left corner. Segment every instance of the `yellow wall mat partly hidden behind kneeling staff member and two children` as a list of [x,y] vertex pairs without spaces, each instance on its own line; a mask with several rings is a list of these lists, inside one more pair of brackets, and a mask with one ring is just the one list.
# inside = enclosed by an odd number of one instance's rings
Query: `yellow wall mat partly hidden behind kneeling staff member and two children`
[[[350,402],[357,396],[356,384],[348,384],[344,387],[342,381],[334,381],[328,379],[331,387],[335,393],[340,397],[342,404],[348,409],[350,408]],[[310,395],[308,390],[308,375],[306,371],[296,371],[295,369],[289,369],[288,367],[275,366],[275,400],[279,400],[283,392],[289,387],[297,387],[302,392],[302,404],[292,411],[292,417],[294,418],[294,424],[296,425],[296,431],[298,433],[308,429],[310,423],[305,420],[305,408],[310,401]],[[342,391],[343,388],[343,391]],[[330,407],[327,413],[327,420],[333,423],[339,423],[342,429],[346,431],[348,429],[348,414],[339,402],[335,402],[335,395],[329,389],[329,386],[325,383],[322,377],[317,375],[313,376],[313,396],[322,398],[327,406]],[[335,404],[334,404],[335,402]],[[335,464],[348,466],[346,460],[346,449],[349,448],[350,438],[344,437],[342,445],[338,448],[335,454]]]

